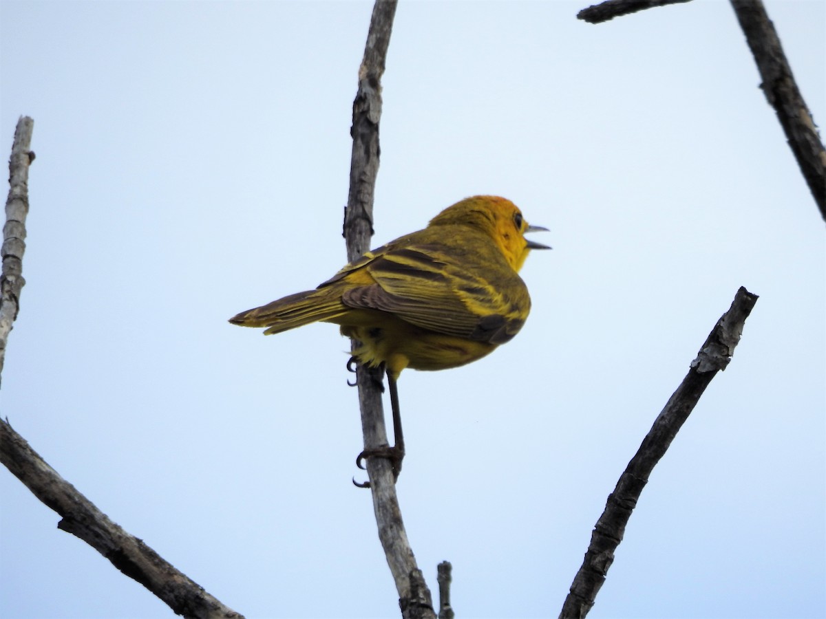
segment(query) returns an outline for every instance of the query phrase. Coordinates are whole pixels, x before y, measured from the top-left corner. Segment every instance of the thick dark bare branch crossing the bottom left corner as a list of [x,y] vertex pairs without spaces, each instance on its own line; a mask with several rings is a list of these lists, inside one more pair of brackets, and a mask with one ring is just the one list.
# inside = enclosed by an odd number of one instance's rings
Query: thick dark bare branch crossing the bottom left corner
[[0,420],[0,461],[35,496],[62,519],[58,528],[78,536],[112,561],[117,569],[137,580],[184,617],[216,619],[242,617],[225,607],[159,557],[158,553],[109,520],[72,484],[34,451],[7,422]]

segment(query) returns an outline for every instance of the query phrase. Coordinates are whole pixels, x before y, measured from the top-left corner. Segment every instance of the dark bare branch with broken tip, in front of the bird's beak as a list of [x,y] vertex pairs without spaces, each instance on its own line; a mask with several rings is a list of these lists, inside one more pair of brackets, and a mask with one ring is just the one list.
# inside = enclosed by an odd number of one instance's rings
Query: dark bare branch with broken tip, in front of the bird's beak
[[614,562],[614,551],[622,541],[625,526],[637,505],[648,477],[657,462],[685,423],[691,411],[719,370],[731,361],[734,347],[740,341],[743,324],[751,313],[757,295],[741,287],[733,303],[712,329],[694,361],[686,378],[668,400],[637,453],[619,477],[614,492],[608,497],[605,511],[596,521],[591,533],[591,545],[582,561],[560,613],[560,619],[582,619],[594,605],[605,574]]

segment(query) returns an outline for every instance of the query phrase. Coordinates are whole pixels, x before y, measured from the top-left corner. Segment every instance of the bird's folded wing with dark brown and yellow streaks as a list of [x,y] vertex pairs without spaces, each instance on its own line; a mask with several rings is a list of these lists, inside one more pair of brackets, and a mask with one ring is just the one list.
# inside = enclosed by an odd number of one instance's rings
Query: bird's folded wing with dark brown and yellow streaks
[[366,267],[375,283],[344,291],[344,305],[390,312],[437,333],[505,343],[525,323],[528,291],[504,263],[479,258],[440,243],[386,246],[345,267],[334,280]]

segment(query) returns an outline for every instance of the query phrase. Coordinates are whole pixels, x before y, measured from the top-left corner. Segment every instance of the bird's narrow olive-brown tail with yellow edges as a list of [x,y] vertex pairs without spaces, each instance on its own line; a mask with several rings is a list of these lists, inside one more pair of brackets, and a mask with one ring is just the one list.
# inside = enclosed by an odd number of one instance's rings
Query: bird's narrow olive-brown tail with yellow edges
[[267,305],[248,309],[230,318],[242,327],[268,327],[264,335],[281,333],[319,320],[330,320],[347,313],[340,295],[330,295],[329,288],[298,292]]

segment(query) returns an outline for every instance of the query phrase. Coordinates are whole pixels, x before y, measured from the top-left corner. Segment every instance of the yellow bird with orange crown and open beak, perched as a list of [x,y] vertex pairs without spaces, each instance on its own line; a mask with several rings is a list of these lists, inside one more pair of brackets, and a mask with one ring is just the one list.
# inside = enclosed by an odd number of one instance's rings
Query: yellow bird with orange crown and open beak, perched
[[365,253],[315,290],[285,296],[230,319],[267,327],[265,335],[317,321],[341,325],[356,342],[353,361],[382,366],[390,388],[396,446],[363,451],[404,456],[396,380],[406,367],[445,370],[484,357],[519,332],[530,297],[518,271],[531,249],[529,225],[513,202],[473,196],[436,215],[427,228]]

